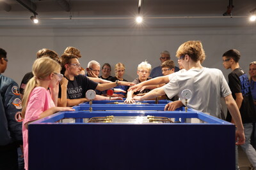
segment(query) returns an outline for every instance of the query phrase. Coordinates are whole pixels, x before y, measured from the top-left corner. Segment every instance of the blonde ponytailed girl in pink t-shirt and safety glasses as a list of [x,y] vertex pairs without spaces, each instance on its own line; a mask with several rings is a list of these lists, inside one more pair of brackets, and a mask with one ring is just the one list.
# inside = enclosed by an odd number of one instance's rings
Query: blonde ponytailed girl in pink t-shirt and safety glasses
[[[25,169],[28,170],[28,124],[58,111],[74,111],[72,108],[56,107],[58,102],[61,66],[49,57],[36,59],[33,78],[28,81],[22,99],[22,134]],[[32,136],[33,137],[33,136]]]

